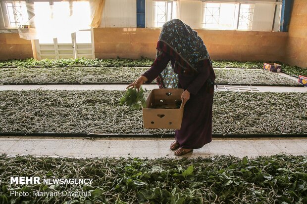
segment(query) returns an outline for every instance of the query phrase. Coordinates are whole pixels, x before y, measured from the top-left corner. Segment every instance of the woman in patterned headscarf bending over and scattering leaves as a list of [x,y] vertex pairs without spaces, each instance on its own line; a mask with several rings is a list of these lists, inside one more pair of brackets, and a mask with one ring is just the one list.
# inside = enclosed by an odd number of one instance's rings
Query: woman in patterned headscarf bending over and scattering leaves
[[[202,148],[212,139],[212,103],[215,74],[203,40],[179,19],[166,22],[157,42],[152,67],[129,87],[150,83],[160,88],[183,88],[181,129],[175,131],[171,150],[181,156]],[[171,62],[171,67],[167,64]],[[179,148],[179,149],[178,149]]]

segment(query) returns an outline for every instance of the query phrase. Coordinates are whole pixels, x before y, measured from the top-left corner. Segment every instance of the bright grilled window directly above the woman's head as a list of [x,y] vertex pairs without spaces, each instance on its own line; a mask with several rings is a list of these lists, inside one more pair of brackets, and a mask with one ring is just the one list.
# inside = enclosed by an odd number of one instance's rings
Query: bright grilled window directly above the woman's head
[[153,1],[153,26],[162,27],[169,20],[177,18],[177,2],[169,1]]

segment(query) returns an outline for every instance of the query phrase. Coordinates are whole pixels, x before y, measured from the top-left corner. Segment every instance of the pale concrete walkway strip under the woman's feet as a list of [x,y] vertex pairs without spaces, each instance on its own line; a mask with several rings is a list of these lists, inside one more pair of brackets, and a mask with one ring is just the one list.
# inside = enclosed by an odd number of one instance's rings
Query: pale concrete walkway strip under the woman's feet
[[[170,138],[0,137],[0,154],[51,157],[178,158],[169,149]],[[275,154],[307,156],[307,138],[213,138],[212,142],[184,157],[233,155],[255,158]],[[181,158],[181,157],[179,157]]]

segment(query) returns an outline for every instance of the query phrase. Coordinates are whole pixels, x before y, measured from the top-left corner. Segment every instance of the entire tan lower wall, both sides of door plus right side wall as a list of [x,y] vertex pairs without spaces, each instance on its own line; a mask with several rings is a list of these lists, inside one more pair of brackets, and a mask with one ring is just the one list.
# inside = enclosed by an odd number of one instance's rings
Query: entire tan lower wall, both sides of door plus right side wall
[[[282,61],[307,67],[307,0],[294,0],[289,33],[197,31],[205,41],[211,58],[215,60]],[[96,57],[154,58],[159,32],[160,29],[151,28],[94,29]],[[0,60],[31,57],[31,41],[20,39],[18,33],[0,29]]]

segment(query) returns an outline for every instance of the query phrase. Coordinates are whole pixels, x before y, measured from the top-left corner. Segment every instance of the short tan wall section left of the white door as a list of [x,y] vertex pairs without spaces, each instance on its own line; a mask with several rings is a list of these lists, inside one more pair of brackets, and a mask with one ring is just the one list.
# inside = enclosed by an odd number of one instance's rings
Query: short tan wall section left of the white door
[[33,58],[31,41],[19,38],[18,33],[0,33],[0,60]]

